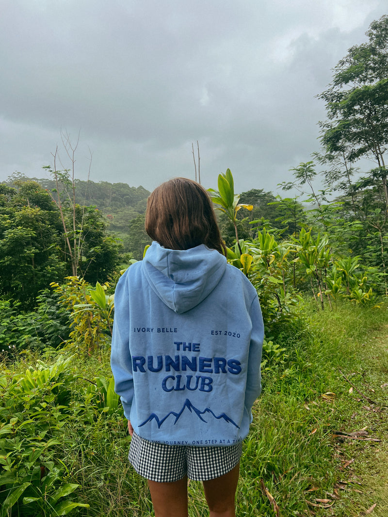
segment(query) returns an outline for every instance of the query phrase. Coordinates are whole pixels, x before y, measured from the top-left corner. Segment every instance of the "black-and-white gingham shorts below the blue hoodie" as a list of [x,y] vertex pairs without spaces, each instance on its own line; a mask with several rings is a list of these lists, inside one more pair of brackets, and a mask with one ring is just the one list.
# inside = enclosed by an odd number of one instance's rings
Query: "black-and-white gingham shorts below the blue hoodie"
[[240,461],[243,444],[194,447],[149,442],[133,433],[128,459],[146,479],[172,482],[187,476],[206,481],[227,474]]

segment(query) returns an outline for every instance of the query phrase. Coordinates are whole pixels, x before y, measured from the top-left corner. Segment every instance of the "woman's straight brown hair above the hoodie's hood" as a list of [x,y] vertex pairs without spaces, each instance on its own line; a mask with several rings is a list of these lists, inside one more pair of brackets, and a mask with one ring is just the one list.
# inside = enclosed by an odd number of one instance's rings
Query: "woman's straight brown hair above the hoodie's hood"
[[173,178],[156,187],[148,197],[145,231],[165,248],[204,244],[226,255],[210,196],[191,179]]

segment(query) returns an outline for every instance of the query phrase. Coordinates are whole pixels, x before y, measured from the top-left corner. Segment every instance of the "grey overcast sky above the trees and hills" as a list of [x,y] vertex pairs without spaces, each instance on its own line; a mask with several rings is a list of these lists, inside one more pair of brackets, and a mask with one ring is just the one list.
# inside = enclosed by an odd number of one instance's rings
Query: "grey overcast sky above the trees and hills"
[[[0,181],[44,177],[61,129],[76,174],[276,191],[319,150],[315,98],[387,0],[0,0]],[[197,150],[196,150],[197,153]]]

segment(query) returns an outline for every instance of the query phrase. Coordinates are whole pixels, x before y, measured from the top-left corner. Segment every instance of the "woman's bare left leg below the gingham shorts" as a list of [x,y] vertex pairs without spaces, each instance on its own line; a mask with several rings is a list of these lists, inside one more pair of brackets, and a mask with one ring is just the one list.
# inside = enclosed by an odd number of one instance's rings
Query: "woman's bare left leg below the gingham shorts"
[[155,517],[188,517],[187,477],[171,483],[148,479]]

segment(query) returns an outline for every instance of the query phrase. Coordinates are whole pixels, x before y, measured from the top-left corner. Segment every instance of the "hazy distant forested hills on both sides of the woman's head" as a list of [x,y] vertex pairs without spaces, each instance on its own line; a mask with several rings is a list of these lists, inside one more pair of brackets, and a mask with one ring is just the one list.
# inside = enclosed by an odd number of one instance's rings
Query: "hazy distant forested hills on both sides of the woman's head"
[[[61,179],[62,183],[58,185],[58,189],[62,203],[66,206],[67,197],[72,197],[72,185],[69,178]],[[43,189],[53,192],[56,197],[56,183],[51,178],[28,178],[21,173],[15,173],[4,183],[18,190],[22,182],[27,181],[35,181]],[[150,192],[142,186],[130,187],[126,183],[96,183],[80,179],[74,180],[74,187],[76,203],[80,206],[95,206],[106,221],[108,233],[120,239],[121,252],[131,253],[133,258],[141,260],[144,247],[151,243],[144,230],[145,209]],[[285,236],[300,230],[304,210],[297,200],[280,200],[272,192],[251,189],[242,192],[240,202],[253,206],[251,211],[238,212],[238,235],[242,239],[256,238],[257,231],[268,225]],[[233,246],[233,224],[218,210],[216,214],[227,246]]]

